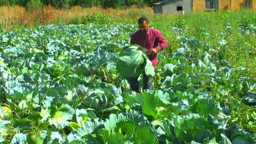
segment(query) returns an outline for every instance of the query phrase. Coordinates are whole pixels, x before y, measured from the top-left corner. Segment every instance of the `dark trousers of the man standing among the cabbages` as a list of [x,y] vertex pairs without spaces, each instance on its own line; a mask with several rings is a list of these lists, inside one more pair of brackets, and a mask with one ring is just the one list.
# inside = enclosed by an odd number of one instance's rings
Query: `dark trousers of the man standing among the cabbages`
[[[156,70],[156,66],[154,66],[154,71]],[[151,90],[152,86],[152,77],[148,77],[145,72],[143,72],[143,90]],[[128,82],[130,83],[130,87],[132,91],[139,92],[139,84],[138,77],[137,78],[128,78]]]

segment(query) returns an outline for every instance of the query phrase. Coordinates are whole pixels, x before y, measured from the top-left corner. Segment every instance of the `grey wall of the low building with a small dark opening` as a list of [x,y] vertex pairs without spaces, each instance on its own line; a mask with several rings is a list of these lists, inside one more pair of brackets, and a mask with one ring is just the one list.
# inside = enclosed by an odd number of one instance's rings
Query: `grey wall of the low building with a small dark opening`
[[163,14],[182,14],[177,11],[177,6],[183,6],[184,13],[192,11],[192,0],[171,0],[163,4]]

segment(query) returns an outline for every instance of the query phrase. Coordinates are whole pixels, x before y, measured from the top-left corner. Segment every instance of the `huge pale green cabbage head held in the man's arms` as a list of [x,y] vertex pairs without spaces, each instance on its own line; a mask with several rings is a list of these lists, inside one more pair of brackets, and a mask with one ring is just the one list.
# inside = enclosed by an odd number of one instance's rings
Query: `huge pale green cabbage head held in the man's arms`
[[148,77],[154,76],[154,67],[148,56],[138,50],[138,46],[129,46],[120,53],[116,68],[124,77],[138,77],[145,72]]

